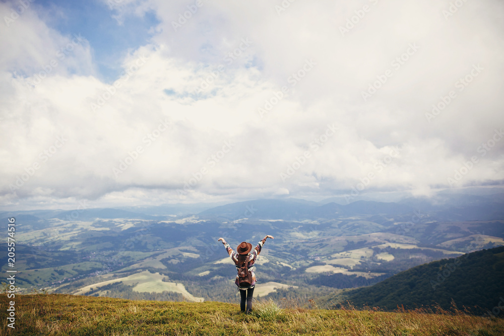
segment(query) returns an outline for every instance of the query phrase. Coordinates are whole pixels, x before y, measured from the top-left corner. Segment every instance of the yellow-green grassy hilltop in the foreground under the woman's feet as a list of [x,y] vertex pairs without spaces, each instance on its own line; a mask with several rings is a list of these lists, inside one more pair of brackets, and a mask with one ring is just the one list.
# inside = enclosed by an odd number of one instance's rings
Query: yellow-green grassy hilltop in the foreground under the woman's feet
[[[426,311],[324,310],[255,303],[131,301],[63,294],[16,295],[16,329],[7,327],[9,299],[0,295],[4,335],[451,335],[498,336],[504,320]],[[311,302],[312,306],[316,306]]]

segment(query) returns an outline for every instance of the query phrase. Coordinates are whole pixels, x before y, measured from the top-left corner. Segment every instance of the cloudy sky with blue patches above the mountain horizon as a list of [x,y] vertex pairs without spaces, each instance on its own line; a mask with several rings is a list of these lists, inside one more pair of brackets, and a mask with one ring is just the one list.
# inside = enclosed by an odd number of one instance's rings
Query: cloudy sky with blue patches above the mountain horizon
[[0,17],[3,209],[504,180],[501,1],[23,0]]

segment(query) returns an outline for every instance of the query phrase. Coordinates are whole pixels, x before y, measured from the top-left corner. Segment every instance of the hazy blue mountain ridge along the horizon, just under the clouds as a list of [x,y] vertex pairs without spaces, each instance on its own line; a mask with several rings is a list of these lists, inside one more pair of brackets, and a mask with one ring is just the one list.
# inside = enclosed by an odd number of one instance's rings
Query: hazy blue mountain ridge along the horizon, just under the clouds
[[[0,212],[0,217],[23,216],[33,222],[40,219],[61,220],[144,219],[165,220],[198,215],[203,218],[236,220],[243,218],[272,220],[333,219],[362,214],[400,215],[432,213],[440,220],[500,220],[504,218],[504,193],[490,195],[450,194],[439,192],[431,198],[407,197],[397,202],[356,200],[347,205],[335,203],[335,197],[320,202],[297,198],[255,199],[215,206],[216,204],[175,204],[151,207],[87,208],[78,210],[35,210]],[[248,208],[247,208],[248,207]]]

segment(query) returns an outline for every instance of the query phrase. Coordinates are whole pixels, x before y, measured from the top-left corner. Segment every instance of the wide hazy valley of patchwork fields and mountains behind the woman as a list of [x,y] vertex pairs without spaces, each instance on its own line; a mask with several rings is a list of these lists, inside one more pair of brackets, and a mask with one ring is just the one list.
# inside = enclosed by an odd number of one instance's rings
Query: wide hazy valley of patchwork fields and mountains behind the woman
[[[504,193],[338,199],[34,210],[0,218],[16,218],[21,292],[135,299],[236,300],[236,271],[219,237],[232,247],[275,237],[256,266],[255,295],[272,298],[287,289],[298,297],[339,295],[421,264],[504,245]],[[5,271],[7,257],[2,260]]]

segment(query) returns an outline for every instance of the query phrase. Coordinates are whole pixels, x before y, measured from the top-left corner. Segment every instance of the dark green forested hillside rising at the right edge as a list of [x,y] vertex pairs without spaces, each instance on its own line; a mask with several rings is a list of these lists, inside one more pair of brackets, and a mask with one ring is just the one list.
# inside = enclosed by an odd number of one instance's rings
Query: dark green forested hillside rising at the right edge
[[393,310],[439,304],[484,314],[504,300],[504,246],[419,265],[374,286],[349,292],[356,307]]

